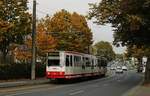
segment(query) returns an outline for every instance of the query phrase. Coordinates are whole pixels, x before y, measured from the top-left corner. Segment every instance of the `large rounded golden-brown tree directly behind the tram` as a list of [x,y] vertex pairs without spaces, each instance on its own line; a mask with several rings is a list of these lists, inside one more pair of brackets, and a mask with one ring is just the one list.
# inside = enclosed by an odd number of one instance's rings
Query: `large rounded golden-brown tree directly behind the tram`
[[57,39],[56,50],[88,53],[92,44],[92,33],[84,16],[61,10],[52,17],[42,19],[48,34]]

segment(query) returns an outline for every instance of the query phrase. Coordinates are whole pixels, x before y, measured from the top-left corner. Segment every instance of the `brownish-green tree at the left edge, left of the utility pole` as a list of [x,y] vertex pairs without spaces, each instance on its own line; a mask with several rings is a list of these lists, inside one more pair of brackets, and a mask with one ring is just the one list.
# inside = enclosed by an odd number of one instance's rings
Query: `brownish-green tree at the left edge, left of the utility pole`
[[1,0],[0,4],[0,51],[5,61],[11,43],[21,44],[31,33],[31,15],[27,0]]

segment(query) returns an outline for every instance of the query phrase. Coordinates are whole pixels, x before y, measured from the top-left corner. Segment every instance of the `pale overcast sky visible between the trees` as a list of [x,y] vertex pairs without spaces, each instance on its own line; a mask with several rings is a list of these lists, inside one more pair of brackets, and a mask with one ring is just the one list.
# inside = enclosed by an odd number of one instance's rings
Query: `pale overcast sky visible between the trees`
[[[42,18],[49,14],[53,16],[61,9],[65,9],[69,12],[77,12],[81,15],[87,15],[89,11],[88,3],[96,3],[101,0],[36,0],[37,1],[37,18]],[[29,10],[32,12],[33,0],[29,0]],[[100,26],[93,24],[93,21],[88,21],[88,25],[93,32],[94,43],[99,41],[113,41],[113,31],[110,25]],[[116,53],[123,53],[125,48],[114,47]]]

